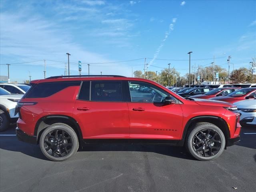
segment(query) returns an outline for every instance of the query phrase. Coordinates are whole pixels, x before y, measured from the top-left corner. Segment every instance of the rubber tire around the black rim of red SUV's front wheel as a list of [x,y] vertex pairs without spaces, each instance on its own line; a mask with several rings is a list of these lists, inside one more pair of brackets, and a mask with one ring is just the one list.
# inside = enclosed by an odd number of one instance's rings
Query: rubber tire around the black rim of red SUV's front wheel
[[[221,138],[221,147],[220,147],[220,150],[217,152],[217,154],[215,154],[214,156],[210,156],[210,157],[202,157],[202,156],[199,156],[193,149],[193,146],[192,146],[192,139],[194,137],[194,135],[200,131],[200,130],[203,130],[203,129],[212,129],[214,131],[216,131],[219,135],[220,135],[220,138]],[[214,124],[199,124],[198,126],[196,126],[189,134],[188,136],[188,139],[187,139],[187,149],[188,151],[190,152],[190,154],[198,159],[198,160],[202,160],[202,161],[208,161],[208,160],[213,160],[213,159],[216,159],[218,158],[222,152],[224,151],[224,148],[225,148],[225,145],[226,145],[226,140],[225,140],[225,136],[222,132],[222,130],[220,130],[220,128],[218,128],[217,126],[215,126]]]

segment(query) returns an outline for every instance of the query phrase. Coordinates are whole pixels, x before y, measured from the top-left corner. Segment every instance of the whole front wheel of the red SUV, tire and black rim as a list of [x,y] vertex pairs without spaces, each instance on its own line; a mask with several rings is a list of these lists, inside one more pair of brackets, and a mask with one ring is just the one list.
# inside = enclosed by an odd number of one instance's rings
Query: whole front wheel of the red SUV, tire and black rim
[[186,148],[191,156],[201,161],[218,158],[226,145],[225,136],[216,125],[200,122],[195,125],[186,140]]

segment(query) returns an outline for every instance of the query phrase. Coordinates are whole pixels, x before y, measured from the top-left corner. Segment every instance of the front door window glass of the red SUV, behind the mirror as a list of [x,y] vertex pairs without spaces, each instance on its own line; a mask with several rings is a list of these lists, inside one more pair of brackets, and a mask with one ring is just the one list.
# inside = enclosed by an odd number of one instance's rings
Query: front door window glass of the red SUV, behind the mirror
[[[146,82],[129,81],[129,87],[132,102],[162,102],[164,98],[170,95],[161,88]],[[136,88],[131,89],[133,87]]]

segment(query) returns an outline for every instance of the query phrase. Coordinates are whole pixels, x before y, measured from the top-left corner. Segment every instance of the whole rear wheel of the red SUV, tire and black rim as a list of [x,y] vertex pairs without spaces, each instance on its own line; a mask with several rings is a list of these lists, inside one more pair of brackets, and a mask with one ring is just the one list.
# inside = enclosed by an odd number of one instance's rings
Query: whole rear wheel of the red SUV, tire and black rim
[[40,136],[40,149],[52,161],[64,161],[78,150],[76,132],[67,124],[55,123],[46,128]]

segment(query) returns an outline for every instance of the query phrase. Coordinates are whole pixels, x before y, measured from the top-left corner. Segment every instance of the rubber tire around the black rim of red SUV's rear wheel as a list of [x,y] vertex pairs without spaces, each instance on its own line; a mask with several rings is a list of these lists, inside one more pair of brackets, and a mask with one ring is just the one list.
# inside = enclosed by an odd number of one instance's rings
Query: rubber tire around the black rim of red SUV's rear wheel
[[[70,151],[70,153],[68,155],[66,155],[64,157],[60,157],[60,158],[56,158],[56,157],[51,156],[44,149],[44,138],[46,137],[46,135],[50,131],[55,130],[55,129],[66,131],[71,136],[71,140],[73,142],[72,150]],[[79,147],[79,142],[78,142],[78,137],[76,135],[76,132],[70,126],[68,126],[66,124],[52,124],[51,126],[49,126],[48,128],[46,128],[43,131],[43,133],[42,133],[42,135],[40,137],[39,145],[40,145],[40,149],[41,149],[42,153],[49,160],[52,160],[52,161],[64,161],[64,160],[72,157],[77,152],[78,147]]]

